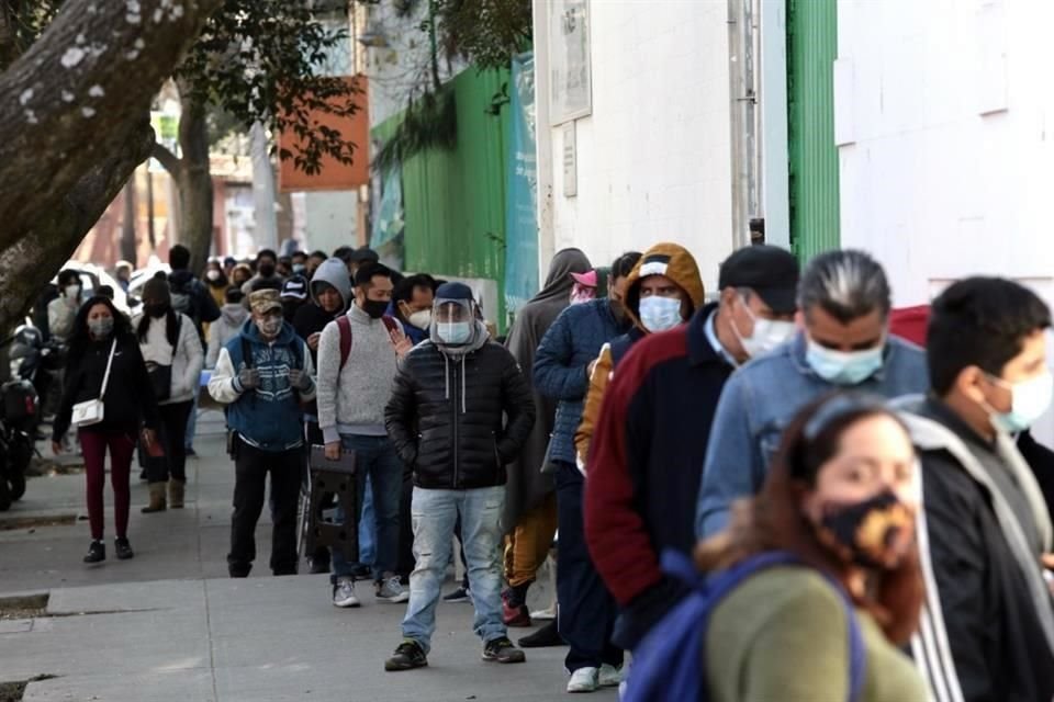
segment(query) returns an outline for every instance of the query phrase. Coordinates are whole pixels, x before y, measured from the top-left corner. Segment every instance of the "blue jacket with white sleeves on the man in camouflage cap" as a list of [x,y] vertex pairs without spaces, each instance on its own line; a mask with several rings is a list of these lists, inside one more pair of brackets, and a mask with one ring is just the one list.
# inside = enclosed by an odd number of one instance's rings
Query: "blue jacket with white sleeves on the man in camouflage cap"
[[[251,367],[260,373],[260,385],[245,389],[238,373],[246,367],[244,340],[253,354]],[[220,352],[216,370],[209,381],[209,393],[227,405],[227,427],[237,431],[246,443],[262,451],[281,452],[303,444],[303,408],[301,403],[315,397],[315,386],[295,390],[289,372],[302,369],[314,374],[307,344],[290,324],[283,324],[278,338],[266,342],[251,319],[242,332]]]

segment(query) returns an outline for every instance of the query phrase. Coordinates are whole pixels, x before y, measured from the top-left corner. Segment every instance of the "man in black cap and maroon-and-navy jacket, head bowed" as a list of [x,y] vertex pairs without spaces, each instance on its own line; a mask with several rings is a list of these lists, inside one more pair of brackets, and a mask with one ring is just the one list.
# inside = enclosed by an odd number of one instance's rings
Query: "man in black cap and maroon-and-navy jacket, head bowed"
[[586,541],[623,607],[616,641],[627,648],[684,592],[663,576],[659,557],[664,548],[691,554],[695,545],[703,460],[729,375],[794,331],[787,320],[797,307],[798,262],[789,252],[740,249],[721,264],[718,284],[720,302],[626,354],[598,412],[592,451],[580,444],[588,475]]

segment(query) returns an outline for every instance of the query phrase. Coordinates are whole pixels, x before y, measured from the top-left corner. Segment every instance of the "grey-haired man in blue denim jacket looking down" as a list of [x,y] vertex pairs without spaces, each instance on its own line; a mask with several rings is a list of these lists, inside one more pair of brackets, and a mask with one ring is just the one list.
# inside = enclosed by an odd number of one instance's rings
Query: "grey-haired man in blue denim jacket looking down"
[[710,430],[696,533],[725,529],[731,503],[758,491],[790,418],[840,388],[899,397],[929,387],[926,353],[889,336],[885,271],[867,253],[831,251],[809,263],[798,285],[794,339],[737,371]]

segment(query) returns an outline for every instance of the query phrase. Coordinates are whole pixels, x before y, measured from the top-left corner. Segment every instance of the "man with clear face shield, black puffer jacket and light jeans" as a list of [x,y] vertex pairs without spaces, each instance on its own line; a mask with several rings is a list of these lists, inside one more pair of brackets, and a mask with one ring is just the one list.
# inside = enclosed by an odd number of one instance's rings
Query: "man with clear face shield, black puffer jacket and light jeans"
[[459,517],[483,659],[523,663],[524,652],[513,646],[502,621],[498,546],[505,466],[519,453],[535,421],[530,388],[512,354],[489,340],[468,286],[441,285],[433,310],[430,339],[404,359],[384,412],[396,451],[414,467],[417,558],[403,643],[384,669],[428,665],[439,588]]

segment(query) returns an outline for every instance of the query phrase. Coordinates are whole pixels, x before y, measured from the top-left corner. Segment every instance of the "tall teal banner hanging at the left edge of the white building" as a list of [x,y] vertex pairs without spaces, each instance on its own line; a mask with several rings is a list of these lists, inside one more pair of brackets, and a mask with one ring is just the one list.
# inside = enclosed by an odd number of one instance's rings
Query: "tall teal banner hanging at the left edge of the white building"
[[505,308],[515,312],[538,292],[538,160],[535,151],[535,58],[513,59],[513,131],[505,159]]

